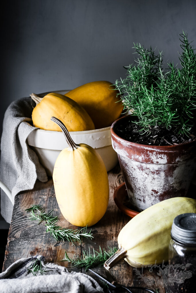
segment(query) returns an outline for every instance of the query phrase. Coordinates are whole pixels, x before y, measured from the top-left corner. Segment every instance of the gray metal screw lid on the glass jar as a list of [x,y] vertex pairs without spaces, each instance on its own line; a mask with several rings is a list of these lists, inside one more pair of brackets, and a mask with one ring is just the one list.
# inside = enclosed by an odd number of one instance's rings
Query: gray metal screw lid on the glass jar
[[196,214],[187,213],[175,217],[171,236],[182,244],[196,245]]

